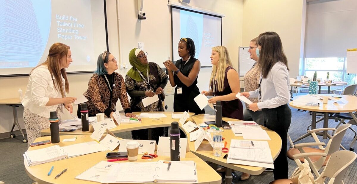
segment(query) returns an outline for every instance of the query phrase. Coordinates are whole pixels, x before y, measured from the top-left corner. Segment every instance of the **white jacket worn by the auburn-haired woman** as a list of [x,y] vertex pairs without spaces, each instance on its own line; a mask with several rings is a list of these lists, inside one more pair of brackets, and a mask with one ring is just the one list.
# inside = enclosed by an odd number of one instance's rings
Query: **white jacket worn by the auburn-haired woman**
[[[62,88],[65,86],[65,80],[62,78]],[[53,81],[52,81],[53,79]],[[56,90],[55,77],[51,77],[47,65],[37,67],[32,71],[29,77],[27,90],[22,99],[22,105],[29,108],[30,112],[41,115],[45,118],[50,117],[50,112],[56,110],[58,105],[46,106],[49,98],[62,98],[61,91]],[[62,107],[62,104],[60,105]]]

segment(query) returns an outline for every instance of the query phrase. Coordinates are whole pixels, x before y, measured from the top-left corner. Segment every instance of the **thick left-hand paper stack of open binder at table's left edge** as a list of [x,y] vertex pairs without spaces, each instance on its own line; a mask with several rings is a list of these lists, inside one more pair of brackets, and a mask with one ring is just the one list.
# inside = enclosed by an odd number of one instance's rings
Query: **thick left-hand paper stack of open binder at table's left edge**
[[24,158],[29,166],[53,162],[67,157],[67,153],[59,145],[38,150],[25,151]]

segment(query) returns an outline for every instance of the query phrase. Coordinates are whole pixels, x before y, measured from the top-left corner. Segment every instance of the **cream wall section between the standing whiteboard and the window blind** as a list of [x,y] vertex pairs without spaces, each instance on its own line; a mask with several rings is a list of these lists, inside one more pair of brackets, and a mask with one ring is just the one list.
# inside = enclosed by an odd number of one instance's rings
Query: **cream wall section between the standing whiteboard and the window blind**
[[[244,0],[243,45],[266,31],[279,34],[288,59],[290,76],[299,74],[300,53],[305,29],[306,0]],[[303,27],[302,27],[303,26]]]

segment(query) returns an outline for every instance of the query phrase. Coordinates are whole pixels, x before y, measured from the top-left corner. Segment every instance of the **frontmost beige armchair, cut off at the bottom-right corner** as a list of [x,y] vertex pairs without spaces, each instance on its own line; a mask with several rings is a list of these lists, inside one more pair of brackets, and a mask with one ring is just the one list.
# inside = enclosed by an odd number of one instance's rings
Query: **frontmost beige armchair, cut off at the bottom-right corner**
[[[299,160],[300,158],[317,154],[321,153],[300,153],[297,154],[294,158]],[[356,158],[357,154],[352,151],[340,150],[336,151],[335,153],[332,153],[330,159],[327,161],[326,167],[323,169],[322,173],[315,179],[315,182],[319,184],[324,184],[325,180],[327,178],[330,178],[327,184],[343,183],[342,179],[347,172],[348,166],[350,166]],[[292,182],[290,179],[278,179],[269,184],[292,184]]]

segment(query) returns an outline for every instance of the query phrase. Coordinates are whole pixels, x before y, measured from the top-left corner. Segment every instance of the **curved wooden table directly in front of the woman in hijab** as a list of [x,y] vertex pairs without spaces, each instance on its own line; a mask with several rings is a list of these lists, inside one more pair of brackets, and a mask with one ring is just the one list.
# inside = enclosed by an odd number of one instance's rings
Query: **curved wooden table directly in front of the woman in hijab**
[[[133,112],[133,114],[135,115],[140,115],[141,113],[142,112]],[[155,112],[145,112],[145,113],[155,113]],[[132,130],[166,127],[166,126],[171,126],[172,121],[178,122],[179,120],[179,119],[171,118],[171,113],[173,112],[162,112],[162,113],[166,115],[166,118],[161,118],[162,122],[160,123],[152,122],[152,118],[141,118],[141,123],[120,124],[119,126],[116,126],[116,128],[110,129],[110,131],[115,134],[115,133],[132,131]],[[195,115],[195,113],[188,113],[188,114],[190,114],[191,116]],[[190,120],[190,118],[188,120]],[[83,132],[81,129],[72,132],[60,132],[60,135],[78,135],[78,134],[92,134],[92,132],[89,131]],[[41,130],[41,135],[51,135],[50,129]]]

